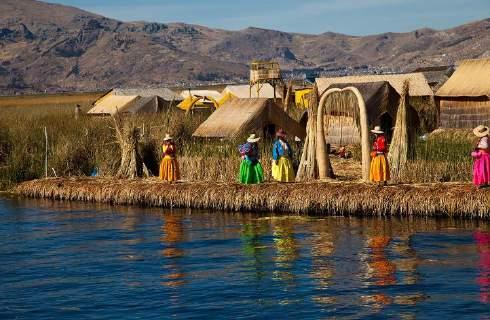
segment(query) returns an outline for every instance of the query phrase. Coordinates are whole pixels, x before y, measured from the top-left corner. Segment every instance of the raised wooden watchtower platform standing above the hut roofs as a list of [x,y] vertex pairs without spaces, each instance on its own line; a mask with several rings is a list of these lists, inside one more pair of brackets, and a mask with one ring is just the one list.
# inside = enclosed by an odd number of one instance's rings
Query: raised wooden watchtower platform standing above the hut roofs
[[252,97],[252,88],[254,86],[257,89],[257,97],[260,97],[260,89],[266,83],[274,88],[274,99],[276,99],[276,88],[279,86],[284,87],[279,63],[272,61],[253,61],[250,64],[250,98]]

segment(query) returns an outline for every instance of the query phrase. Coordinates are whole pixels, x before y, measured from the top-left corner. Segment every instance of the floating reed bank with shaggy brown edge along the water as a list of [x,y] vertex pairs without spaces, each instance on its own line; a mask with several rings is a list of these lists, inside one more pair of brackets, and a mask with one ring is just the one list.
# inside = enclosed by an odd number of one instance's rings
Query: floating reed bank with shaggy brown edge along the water
[[23,182],[18,195],[113,205],[315,215],[490,217],[490,189],[469,183],[361,182],[163,183],[158,179],[48,178]]

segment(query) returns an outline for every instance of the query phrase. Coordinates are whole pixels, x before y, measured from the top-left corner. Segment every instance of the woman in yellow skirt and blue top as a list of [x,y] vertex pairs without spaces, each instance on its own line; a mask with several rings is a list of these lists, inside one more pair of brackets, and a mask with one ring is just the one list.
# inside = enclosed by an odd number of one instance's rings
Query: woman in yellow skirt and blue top
[[276,137],[272,146],[272,177],[279,182],[293,182],[293,150],[286,141],[286,132],[283,129],[276,132]]

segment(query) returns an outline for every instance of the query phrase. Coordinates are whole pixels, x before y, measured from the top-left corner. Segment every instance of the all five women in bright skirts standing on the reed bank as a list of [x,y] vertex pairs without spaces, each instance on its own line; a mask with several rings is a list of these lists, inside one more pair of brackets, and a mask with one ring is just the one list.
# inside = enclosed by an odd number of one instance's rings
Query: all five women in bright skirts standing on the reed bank
[[[371,151],[371,166],[369,179],[371,182],[387,185],[390,180],[390,168],[387,159],[388,143],[383,130],[376,126],[371,133],[374,142]],[[490,185],[490,129],[480,125],[473,129],[478,137],[476,148],[471,153],[473,163],[473,184],[477,187]],[[272,178],[278,182],[293,182],[295,173],[293,168],[293,149],[286,140],[287,134],[283,129],[276,132],[276,139],[272,144]],[[260,163],[258,142],[260,137],[251,134],[247,142],[240,145],[238,151],[242,158],[239,172],[239,182],[242,184],[258,184],[265,180],[264,169]],[[173,138],[166,135],[163,139],[163,159],[160,164],[160,179],[164,181],[177,181],[180,172],[175,159],[176,147]]]

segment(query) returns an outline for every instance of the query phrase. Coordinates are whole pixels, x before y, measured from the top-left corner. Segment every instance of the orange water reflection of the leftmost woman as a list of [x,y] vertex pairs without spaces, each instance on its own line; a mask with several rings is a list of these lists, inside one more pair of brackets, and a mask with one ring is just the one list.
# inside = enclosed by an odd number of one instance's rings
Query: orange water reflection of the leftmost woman
[[166,258],[167,273],[162,276],[163,285],[178,287],[184,284],[184,272],[179,264],[179,258],[184,255],[184,250],[179,243],[184,240],[184,226],[182,216],[178,214],[166,214],[162,226],[161,241],[164,245],[162,255]]

